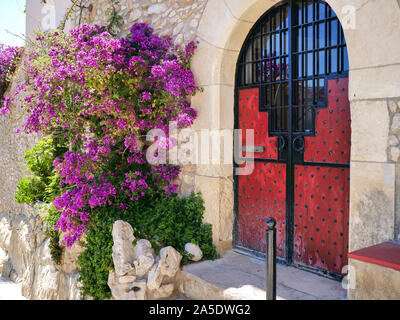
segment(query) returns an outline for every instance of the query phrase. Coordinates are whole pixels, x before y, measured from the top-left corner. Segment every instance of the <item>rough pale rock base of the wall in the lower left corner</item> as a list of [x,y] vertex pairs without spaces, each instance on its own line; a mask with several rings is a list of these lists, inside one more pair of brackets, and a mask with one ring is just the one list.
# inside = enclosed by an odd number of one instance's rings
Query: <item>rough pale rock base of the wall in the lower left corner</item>
[[[2,227],[7,226],[7,216],[1,217]],[[49,243],[43,230],[42,218],[31,211],[9,219],[9,245],[5,246],[8,260],[2,275],[22,284],[22,294],[33,300],[78,300],[77,256],[82,248],[75,244],[63,250],[62,264],[55,265]],[[4,230],[3,230],[4,231]]]

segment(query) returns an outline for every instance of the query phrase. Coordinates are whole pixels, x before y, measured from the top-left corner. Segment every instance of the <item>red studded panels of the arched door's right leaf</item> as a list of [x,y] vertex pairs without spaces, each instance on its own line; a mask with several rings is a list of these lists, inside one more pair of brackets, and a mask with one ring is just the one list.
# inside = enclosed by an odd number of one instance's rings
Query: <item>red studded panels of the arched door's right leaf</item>
[[[294,261],[336,274],[347,265],[350,196],[348,79],[328,80],[328,105],[294,171]],[[312,165],[319,163],[319,165]]]

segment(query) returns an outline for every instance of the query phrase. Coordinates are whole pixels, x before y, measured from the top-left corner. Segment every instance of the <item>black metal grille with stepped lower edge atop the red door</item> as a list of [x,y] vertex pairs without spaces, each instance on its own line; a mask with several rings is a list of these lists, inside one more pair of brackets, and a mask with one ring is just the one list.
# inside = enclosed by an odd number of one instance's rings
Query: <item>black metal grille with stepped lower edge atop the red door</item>
[[260,88],[270,135],[313,135],[316,109],[327,104],[326,79],[349,69],[338,18],[323,1],[284,1],[254,26],[238,67],[239,88]]

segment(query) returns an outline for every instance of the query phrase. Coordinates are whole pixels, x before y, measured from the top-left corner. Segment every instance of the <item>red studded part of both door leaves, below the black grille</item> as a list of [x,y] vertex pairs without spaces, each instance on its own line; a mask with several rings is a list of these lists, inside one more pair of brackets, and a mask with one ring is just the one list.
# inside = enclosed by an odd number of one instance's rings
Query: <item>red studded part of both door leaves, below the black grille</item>
[[237,177],[235,243],[265,252],[265,219],[273,217],[279,258],[340,275],[348,253],[350,103],[347,78],[325,81],[326,105],[313,109],[313,128],[302,133],[293,128],[294,108],[279,115],[288,118],[286,130],[271,133],[276,112],[259,110],[259,89],[238,91],[242,144],[254,129],[258,148],[253,172]]

